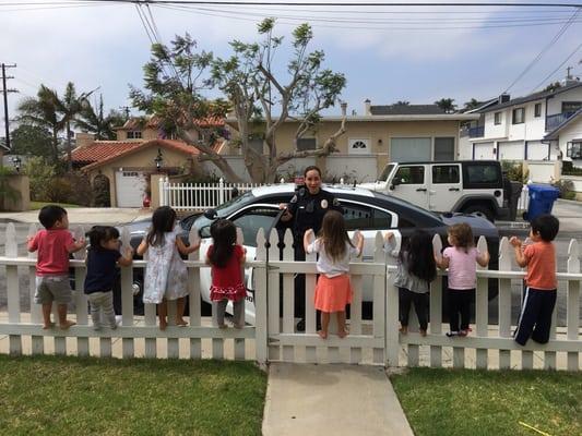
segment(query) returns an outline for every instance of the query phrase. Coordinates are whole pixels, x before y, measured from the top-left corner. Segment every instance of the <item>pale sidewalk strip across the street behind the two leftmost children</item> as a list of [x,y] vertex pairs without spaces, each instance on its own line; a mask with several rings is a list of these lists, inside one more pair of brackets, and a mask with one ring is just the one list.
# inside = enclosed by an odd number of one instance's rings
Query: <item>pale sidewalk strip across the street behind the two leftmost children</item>
[[[71,225],[100,223],[119,226],[127,222],[149,218],[152,209],[122,208],[122,207],[79,207],[67,209]],[[3,211],[0,213],[0,222],[38,222],[38,210]]]

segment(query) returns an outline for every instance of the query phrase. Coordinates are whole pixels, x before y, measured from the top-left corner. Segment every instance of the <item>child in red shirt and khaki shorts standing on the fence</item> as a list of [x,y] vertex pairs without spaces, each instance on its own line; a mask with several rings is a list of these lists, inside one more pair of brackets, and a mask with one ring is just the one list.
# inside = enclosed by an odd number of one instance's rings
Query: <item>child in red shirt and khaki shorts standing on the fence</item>
[[67,330],[75,324],[67,319],[67,304],[72,300],[69,284],[69,254],[83,249],[85,240],[83,238],[76,242],[73,240],[68,230],[67,210],[60,206],[43,207],[38,220],[45,230],[39,230],[27,239],[28,251],[38,251],[34,301],[43,305],[44,329],[55,325],[50,322],[50,311],[55,301],[60,328]]

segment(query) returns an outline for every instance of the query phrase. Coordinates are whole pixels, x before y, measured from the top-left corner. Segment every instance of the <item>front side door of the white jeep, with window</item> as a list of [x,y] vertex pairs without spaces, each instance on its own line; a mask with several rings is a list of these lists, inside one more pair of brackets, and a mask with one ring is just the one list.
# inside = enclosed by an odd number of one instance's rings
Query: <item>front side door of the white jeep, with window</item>
[[392,179],[393,189],[391,189],[391,194],[427,209],[427,168],[429,166],[426,165],[403,165],[399,167]]

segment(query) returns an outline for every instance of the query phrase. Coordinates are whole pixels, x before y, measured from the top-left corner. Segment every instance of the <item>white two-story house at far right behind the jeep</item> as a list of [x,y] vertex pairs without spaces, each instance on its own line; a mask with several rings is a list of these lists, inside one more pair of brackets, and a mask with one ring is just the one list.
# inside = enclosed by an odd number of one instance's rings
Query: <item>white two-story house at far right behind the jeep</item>
[[[503,94],[473,113],[463,155],[470,159],[573,160],[582,166],[582,83],[511,99]],[[578,162],[577,162],[578,160]]]

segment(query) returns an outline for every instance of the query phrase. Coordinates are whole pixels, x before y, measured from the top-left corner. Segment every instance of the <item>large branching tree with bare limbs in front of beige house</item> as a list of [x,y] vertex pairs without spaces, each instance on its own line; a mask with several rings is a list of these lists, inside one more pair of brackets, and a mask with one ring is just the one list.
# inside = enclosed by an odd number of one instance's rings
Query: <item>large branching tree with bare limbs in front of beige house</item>
[[[275,53],[283,37],[273,36],[274,20],[266,19],[258,26],[259,43],[231,41],[233,55],[214,59],[212,53],[195,52],[195,43],[186,35],[177,37],[171,47],[155,45],[152,60],[145,68],[145,87],[150,94],[135,88],[131,97],[138,108],[155,113],[173,128],[179,137],[199,148],[202,159],[212,160],[231,181],[239,181],[228,162],[211,147],[216,133],[202,131],[195,119],[224,111],[224,105],[212,104],[203,92],[218,87],[228,98],[237,118],[245,165],[256,182],[273,182],[277,168],[300,157],[326,156],[336,150],[335,141],[345,131],[345,117],[340,129],[317,149],[281,153],[275,132],[285,122],[294,121],[295,142],[313,131],[321,112],[333,106],[345,86],[343,74],[323,69],[324,53],[308,51],[312,40],[307,24],[293,32],[293,50],[285,65],[275,64]],[[285,71],[277,74],[275,71]],[[190,132],[199,132],[194,138]],[[249,145],[259,136],[265,153]]]

